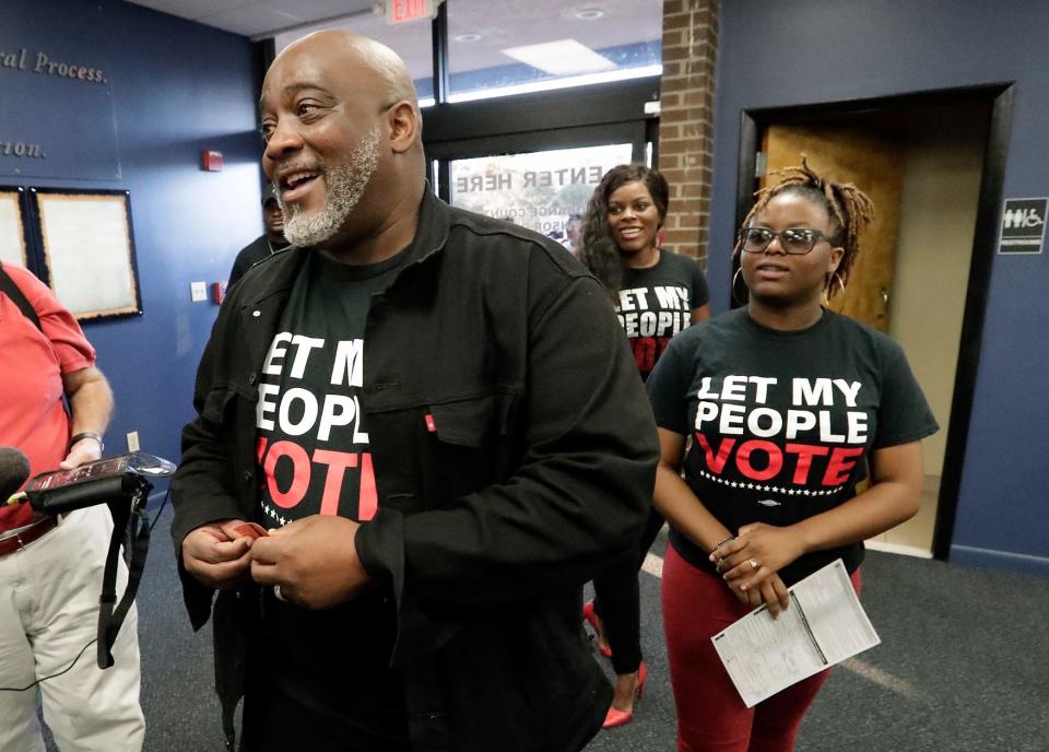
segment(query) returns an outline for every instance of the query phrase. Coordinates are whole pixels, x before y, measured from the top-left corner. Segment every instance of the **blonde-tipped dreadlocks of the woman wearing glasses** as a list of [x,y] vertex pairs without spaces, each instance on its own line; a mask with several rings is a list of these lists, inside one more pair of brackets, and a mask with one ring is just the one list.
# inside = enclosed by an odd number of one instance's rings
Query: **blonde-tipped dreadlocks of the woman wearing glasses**
[[[782,177],[775,186],[767,186],[754,193],[757,199],[754,208],[743,220],[743,226],[750,225],[768,202],[781,193],[802,196],[820,203],[827,211],[827,216],[835,228],[830,242],[840,246],[845,251],[835,272],[840,280],[839,290],[845,290],[849,280],[849,271],[860,252],[860,233],[874,220],[874,204],[862,190],[851,183],[833,183],[815,173],[801,155],[801,165],[774,169],[769,177]],[[739,255],[740,245],[736,245],[734,255]],[[827,297],[837,292],[830,280],[827,280]]]

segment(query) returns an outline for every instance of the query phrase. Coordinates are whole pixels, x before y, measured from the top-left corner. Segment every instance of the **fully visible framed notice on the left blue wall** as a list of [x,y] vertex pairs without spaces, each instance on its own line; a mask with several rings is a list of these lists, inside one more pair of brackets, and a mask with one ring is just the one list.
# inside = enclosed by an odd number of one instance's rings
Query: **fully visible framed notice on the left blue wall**
[[79,319],[142,313],[126,190],[31,188],[55,296]]

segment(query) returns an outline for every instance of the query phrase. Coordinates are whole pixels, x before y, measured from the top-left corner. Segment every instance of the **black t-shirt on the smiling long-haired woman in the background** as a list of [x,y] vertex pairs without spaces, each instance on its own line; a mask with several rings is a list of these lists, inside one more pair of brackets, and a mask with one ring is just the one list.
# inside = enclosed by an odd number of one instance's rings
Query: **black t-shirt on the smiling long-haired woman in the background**
[[674,334],[692,324],[692,312],[710,299],[694,258],[661,250],[655,267],[624,269],[615,313],[630,343],[641,378]]

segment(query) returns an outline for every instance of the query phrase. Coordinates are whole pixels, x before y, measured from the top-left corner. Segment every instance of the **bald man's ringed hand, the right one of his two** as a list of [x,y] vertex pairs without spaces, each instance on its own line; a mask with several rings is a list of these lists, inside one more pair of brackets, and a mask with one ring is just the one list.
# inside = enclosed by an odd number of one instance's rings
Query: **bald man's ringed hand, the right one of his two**
[[350,600],[368,584],[354,542],[361,526],[314,515],[271,530],[251,545],[251,578],[280,585],[281,597],[310,609]]

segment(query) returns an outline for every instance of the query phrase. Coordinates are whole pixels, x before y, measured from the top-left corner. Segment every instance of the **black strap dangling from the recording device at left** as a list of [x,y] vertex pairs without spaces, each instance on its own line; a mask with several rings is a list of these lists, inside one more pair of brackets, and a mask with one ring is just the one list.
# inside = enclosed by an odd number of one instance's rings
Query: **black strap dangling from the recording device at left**
[[[113,644],[117,639],[145,569],[145,556],[150,550],[150,521],[145,516],[145,500],[153,489],[143,478],[135,478],[134,492],[130,502],[123,500],[109,502],[113,514],[113,536],[109,538],[109,553],[106,555],[106,568],[102,578],[102,596],[98,599],[98,668],[113,666]],[[128,585],[120,602],[117,603],[117,569],[120,547],[127,544]],[[116,608],[114,608],[116,606]]]

